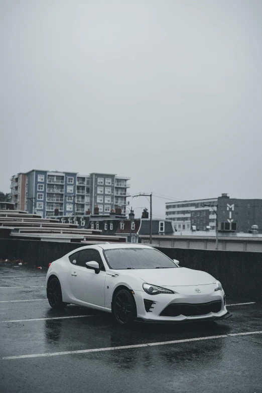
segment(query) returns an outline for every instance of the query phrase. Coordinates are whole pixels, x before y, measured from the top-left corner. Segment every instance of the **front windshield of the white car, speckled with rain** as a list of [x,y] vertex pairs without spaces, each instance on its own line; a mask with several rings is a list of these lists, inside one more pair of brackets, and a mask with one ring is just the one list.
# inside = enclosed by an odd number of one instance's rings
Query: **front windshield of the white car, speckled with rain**
[[104,250],[110,269],[170,269],[177,265],[153,248],[113,248]]

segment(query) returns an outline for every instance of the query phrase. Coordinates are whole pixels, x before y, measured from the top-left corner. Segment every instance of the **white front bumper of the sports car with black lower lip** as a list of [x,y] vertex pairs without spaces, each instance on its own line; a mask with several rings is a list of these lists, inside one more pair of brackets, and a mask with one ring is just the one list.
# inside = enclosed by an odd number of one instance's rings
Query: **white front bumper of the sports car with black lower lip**
[[[215,292],[209,285],[202,286],[201,291],[202,293],[198,294],[194,292],[193,288],[189,287],[177,287],[174,294],[148,295],[145,291],[135,291],[134,297],[137,305],[137,320],[144,322],[170,323],[214,321],[231,317],[231,314],[227,311],[226,305],[224,304],[224,291]],[[214,312],[206,309],[205,305],[208,304],[212,304],[212,307],[210,306],[212,310],[213,304],[216,304],[216,311]],[[168,314],[165,313],[165,310],[168,307],[170,308],[170,306],[171,309],[172,306],[175,306],[175,309],[176,306],[182,309],[184,306],[186,308],[189,306],[193,309],[197,308],[198,311],[195,315],[193,315],[194,311],[187,313],[187,315],[183,315],[183,311],[181,311],[180,315],[176,316],[163,315]]]

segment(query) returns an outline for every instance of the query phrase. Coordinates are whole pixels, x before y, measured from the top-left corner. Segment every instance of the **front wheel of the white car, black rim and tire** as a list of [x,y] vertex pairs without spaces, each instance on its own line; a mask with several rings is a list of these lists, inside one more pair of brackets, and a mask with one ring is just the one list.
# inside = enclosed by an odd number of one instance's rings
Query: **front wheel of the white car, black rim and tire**
[[112,314],[115,321],[123,326],[130,326],[137,316],[134,296],[126,289],[120,289],[112,301]]

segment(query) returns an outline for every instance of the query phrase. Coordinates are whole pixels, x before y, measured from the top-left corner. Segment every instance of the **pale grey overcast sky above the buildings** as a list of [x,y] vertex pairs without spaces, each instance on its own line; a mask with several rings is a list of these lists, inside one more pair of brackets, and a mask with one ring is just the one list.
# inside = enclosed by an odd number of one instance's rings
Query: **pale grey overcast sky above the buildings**
[[36,168],[262,197],[261,0],[2,0],[0,18],[0,191]]

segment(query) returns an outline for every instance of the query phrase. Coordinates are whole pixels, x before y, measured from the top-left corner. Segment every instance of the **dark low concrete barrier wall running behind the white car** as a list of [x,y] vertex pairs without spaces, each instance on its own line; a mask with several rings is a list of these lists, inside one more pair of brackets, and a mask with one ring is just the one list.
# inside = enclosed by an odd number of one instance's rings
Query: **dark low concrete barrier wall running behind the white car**
[[[37,240],[0,239],[0,258],[23,259],[35,266],[47,267],[50,262],[81,243]],[[262,254],[244,251],[214,251],[186,248],[156,247],[180,266],[203,270],[221,281],[228,296],[242,300],[262,300]],[[152,283],[154,284],[154,283]]]

